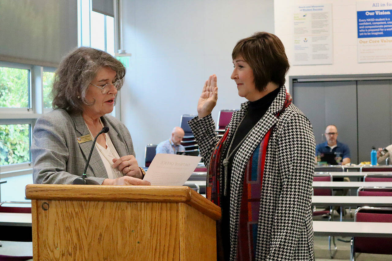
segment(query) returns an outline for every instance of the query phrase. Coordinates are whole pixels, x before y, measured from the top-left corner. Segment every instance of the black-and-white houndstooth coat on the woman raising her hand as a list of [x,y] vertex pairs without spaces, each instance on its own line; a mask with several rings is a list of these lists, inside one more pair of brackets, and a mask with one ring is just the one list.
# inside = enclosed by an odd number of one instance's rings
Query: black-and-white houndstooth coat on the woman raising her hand
[[[314,135],[310,121],[294,104],[290,104],[278,118],[275,116],[282,110],[285,98],[286,88],[282,86],[234,156],[230,184],[230,260],[236,260],[245,167],[256,146],[273,126],[265,157],[255,259],[313,260]],[[231,140],[234,130],[245,117],[248,105],[249,102],[242,103],[241,109],[233,113],[227,140]],[[211,114],[201,119],[195,117],[189,125],[208,166],[219,141]]]

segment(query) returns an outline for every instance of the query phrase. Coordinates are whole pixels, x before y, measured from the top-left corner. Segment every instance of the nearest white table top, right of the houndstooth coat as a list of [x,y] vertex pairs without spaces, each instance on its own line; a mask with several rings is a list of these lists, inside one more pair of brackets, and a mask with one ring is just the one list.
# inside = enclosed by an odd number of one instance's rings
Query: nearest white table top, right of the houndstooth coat
[[379,222],[313,221],[313,231],[315,236],[391,237],[392,225]]

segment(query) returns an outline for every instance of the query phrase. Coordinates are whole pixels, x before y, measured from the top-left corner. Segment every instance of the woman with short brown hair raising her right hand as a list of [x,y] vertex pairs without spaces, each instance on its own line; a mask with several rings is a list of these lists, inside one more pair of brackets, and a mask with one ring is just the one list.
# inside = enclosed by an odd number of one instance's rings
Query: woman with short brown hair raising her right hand
[[218,138],[211,112],[216,75],[189,121],[208,166],[207,198],[222,209],[220,260],[313,260],[312,125],[284,86],[289,62],[279,38],[255,33],[232,52],[238,95],[248,101]]

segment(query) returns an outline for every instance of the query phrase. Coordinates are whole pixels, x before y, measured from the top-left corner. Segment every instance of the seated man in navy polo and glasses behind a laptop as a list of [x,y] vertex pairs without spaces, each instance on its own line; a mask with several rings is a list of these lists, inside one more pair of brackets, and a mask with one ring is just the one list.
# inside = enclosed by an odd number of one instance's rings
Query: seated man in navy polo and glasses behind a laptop
[[328,125],[325,129],[325,138],[327,141],[316,146],[316,162],[318,156],[325,152],[334,152],[342,158],[341,164],[345,165],[351,162],[350,149],[344,143],[338,141],[338,128],[335,125]]

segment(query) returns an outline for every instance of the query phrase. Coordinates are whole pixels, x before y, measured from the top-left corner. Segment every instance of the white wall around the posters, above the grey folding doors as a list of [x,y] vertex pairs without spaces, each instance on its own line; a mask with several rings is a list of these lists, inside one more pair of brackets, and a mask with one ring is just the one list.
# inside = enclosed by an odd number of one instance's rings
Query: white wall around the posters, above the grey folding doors
[[[290,75],[390,73],[392,62],[357,62],[357,13],[355,0],[275,0],[275,34],[282,40],[289,61],[293,59],[292,6],[332,3],[333,64],[291,65]],[[288,85],[287,85],[288,87]]]

